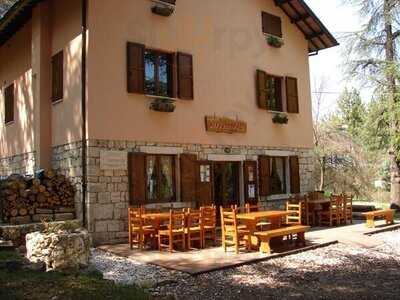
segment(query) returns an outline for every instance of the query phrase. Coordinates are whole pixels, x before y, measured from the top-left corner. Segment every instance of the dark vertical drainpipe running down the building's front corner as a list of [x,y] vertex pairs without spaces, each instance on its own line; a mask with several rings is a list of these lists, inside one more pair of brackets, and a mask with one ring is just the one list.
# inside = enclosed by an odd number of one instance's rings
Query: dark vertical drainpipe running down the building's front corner
[[82,88],[82,225],[87,226],[86,220],[86,191],[87,191],[87,165],[86,165],[86,40],[87,40],[87,0],[82,0],[82,57],[81,57],[81,88]]

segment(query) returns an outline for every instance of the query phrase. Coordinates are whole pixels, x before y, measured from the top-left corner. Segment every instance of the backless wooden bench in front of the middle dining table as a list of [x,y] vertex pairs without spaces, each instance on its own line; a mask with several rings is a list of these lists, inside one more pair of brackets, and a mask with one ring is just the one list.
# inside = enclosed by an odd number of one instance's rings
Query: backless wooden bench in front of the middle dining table
[[310,229],[310,226],[304,225],[293,225],[289,227],[281,227],[278,229],[267,230],[267,231],[258,231],[255,232],[254,235],[260,240],[260,252],[261,253],[271,253],[271,248],[269,246],[269,242],[271,238],[274,237],[283,237],[287,235],[296,234],[297,235],[297,243],[305,245],[305,232]]

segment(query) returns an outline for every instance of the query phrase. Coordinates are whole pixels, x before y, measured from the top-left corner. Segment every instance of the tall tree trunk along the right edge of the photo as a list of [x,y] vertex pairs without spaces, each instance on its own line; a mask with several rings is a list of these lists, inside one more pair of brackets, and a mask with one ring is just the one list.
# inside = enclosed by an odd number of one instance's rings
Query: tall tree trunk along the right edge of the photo
[[392,4],[390,0],[384,0],[383,14],[385,18],[385,55],[386,55],[386,81],[387,81],[387,96],[390,103],[391,118],[390,118],[390,135],[391,149],[389,151],[390,159],[390,201],[391,206],[400,208],[400,169],[398,153],[395,147],[395,137],[397,136],[398,120],[396,117],[396,74],[393,64],[395,63],[394,36],[392,27]]

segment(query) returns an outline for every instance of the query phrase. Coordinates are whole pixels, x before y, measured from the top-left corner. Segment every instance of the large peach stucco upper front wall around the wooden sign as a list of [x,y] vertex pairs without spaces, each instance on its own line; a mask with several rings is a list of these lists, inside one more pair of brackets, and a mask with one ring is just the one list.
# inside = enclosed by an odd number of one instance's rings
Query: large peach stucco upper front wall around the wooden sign
[[[273,0],[184,0],[165,18],[149,0],[89,2],[89,138],[154,142],[311,147],[307,42]],[[261,11],[283,20],[285,45],[268,46]],[[172,114],[149,110],[150,99],[126,92],[126,43],[194,56],[194,101],[177,101]],[[286,126],[256,104],[260,68],[299,80],[300,114]],[[205,131],[206,115],[238,117],[247,134]]]

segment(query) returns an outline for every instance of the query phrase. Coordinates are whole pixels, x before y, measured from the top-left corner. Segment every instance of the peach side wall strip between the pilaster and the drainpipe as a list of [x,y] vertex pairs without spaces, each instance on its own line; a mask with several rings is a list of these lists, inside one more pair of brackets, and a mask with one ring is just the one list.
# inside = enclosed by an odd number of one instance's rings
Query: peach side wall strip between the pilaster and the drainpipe
[[53,146],[81,139],[81,1],[53,0],[52,55],[64,50],[64,98],[52,107]]

